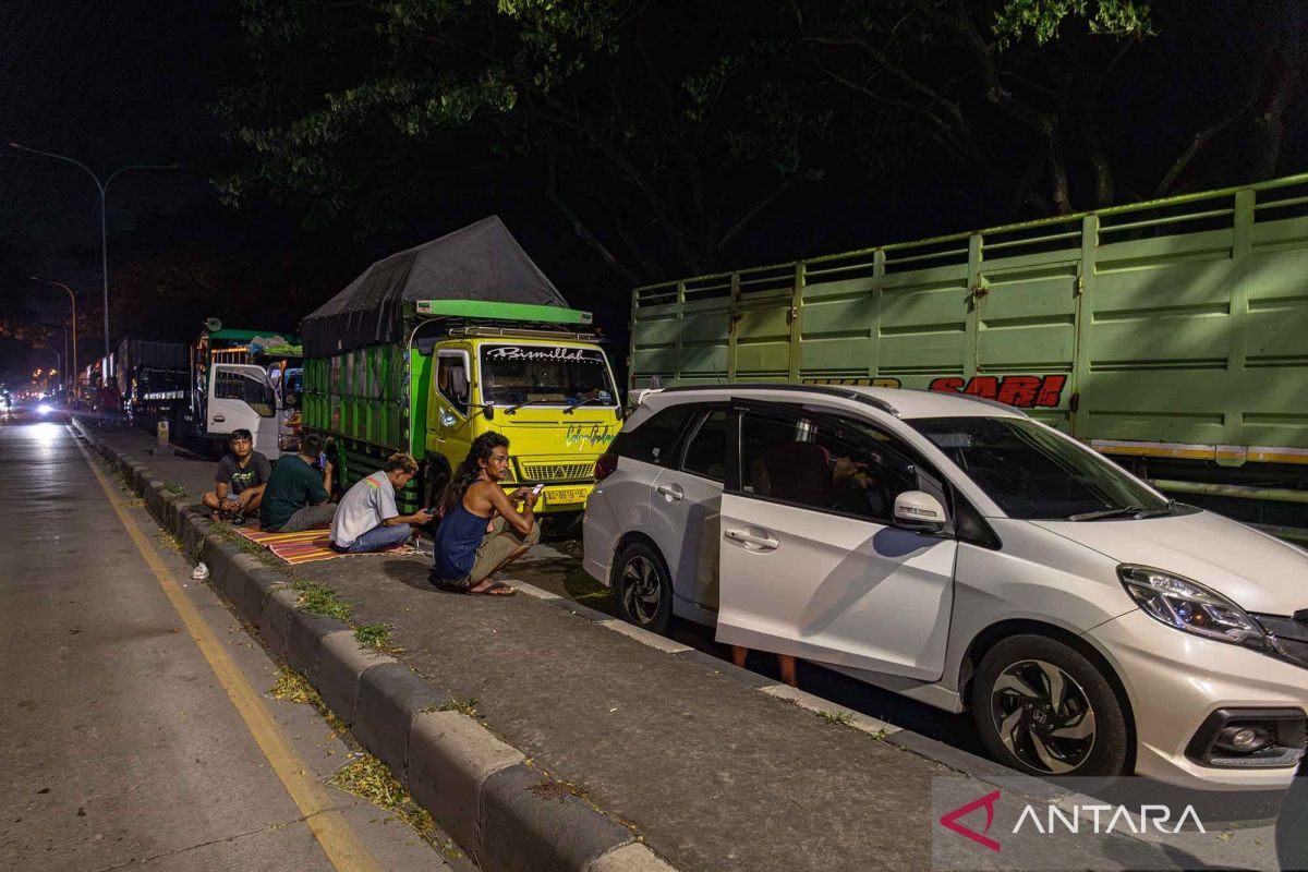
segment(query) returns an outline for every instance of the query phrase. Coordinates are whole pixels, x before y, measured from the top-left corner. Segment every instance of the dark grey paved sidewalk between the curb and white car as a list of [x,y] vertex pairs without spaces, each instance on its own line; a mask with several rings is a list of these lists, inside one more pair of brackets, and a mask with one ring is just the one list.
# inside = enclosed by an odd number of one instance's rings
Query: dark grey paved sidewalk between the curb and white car
[[[195,501],[212,486],[212,463],[150,454],[153,439],[132,430],[97,435]],[[352,603],[356,624],[390,625],[399,660],[439,698],[476,699],[490,731],[680,869],[930,868],[931,779],[959,771],[565,600],[436,591],[429,563],[349,557],[294,571]],[[1079,864],[1056,845],[1049,860]]]

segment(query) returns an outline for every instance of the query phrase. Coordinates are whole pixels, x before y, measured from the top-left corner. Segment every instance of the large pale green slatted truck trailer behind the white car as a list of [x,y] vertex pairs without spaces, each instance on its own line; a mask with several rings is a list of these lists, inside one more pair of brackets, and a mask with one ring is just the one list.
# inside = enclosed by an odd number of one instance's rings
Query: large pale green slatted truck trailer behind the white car
[[633,388],[956,391],[1308,524],[1308,175],[637,288],[630,327]]

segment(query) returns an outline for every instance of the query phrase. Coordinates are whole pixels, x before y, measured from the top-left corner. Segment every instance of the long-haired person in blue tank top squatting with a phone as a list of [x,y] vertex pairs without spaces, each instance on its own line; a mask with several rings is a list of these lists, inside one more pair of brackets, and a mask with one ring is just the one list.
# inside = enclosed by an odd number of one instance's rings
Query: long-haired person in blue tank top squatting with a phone
[[[540,541],[540,524],[532,514],[536,495],[530,488],[505,494],[500,482],[508,477],[509,441],[498,433],[473,439],[437,511],[433,584],[463,594],[517,594],[493,575]],[[517,501],[523,502],[521,512]]]

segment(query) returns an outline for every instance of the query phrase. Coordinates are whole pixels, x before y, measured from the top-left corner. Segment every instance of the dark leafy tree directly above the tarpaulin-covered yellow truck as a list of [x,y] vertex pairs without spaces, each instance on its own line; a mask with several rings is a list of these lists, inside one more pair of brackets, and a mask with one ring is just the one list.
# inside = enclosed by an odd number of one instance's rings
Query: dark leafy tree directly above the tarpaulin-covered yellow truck
[[[311,221],[385,229],[489,159],[628,281],[698,272],[823,175],[823,110],[774,34],[783,8],[586,0],[245,7],[251,81],[220,115],[267,188]],[[408,195],[408,196],[407,196]]]

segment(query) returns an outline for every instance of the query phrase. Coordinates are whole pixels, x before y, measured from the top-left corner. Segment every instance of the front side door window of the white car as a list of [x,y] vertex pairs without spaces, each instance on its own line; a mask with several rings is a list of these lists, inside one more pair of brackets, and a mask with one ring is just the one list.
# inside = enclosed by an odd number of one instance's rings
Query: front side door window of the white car
[[895,498],[917,489],[917,469],[892,437],[849,418],[746,411],[744,493],[889,523]]

